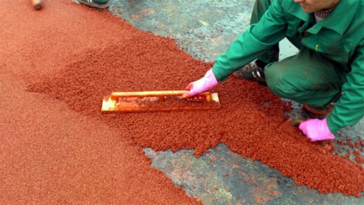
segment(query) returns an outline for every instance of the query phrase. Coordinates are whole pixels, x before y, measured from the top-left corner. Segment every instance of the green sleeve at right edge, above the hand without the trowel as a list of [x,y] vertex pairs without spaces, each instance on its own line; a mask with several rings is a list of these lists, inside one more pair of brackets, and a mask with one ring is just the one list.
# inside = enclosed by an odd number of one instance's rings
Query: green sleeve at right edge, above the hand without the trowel
[[364,40],[355,49],[351,71],[342,85],[343,94],[327,116],[327,126],[331,133],[354,125],[364,116]]

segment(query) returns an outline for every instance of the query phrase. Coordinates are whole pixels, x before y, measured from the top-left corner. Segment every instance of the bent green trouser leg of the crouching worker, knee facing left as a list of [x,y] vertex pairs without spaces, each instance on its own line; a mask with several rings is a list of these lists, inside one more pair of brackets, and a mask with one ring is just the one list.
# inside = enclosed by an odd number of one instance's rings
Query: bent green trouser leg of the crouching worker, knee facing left
[[343,69],[305,47],[296,55],[269,63],[264,74],[274,94],[312,107],[330,103],[346,82]]

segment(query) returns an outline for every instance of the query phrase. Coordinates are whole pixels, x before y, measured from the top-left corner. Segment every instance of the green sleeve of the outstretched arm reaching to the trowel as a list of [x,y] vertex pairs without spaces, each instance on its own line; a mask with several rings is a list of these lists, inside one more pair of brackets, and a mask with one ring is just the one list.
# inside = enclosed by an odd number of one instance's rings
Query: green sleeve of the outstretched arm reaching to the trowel
[[267,48],[284,38],[287,22],[281,0],[274,0],[258,23],[251,24],[226,52],[218,56],[212,71],[218,81],[224,81],[236,69],[262,55]]

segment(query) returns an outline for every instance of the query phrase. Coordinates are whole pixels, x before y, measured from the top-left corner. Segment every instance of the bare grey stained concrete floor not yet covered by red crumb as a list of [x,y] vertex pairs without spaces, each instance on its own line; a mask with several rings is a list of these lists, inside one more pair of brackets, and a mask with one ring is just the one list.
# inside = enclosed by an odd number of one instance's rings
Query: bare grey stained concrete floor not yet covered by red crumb
[[[244,31],[254,0],[110,0],[110,12],[141,30],[169,36],[195,58],[213,61]],[[296,53],[287,40],[280,42],[280,59]],[[301,105],[293,103],[293,115]],[[364,119],[336,134],[363,137]],[[347,145],[335,143],[336,153],[345,154]],[[232,152],[225,144],[195,158],[193,150],[144,152],[152,166],[161,170],[177,186],[204,204],[364,204],[364,198],[342,194],[319,194],[258,161]],[[361,153],[363,155],[363,153]],[[351,160],[352,157],[350,158]]]

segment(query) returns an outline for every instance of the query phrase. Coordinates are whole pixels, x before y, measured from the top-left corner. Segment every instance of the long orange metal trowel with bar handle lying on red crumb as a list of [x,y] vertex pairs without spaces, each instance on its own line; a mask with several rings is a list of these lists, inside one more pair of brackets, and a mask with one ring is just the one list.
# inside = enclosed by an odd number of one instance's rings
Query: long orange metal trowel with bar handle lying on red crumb
[[182,99],[188,90],[112,92],[102,100],[102,112],[146,112],[219,109],[217,93],[205,91]]

